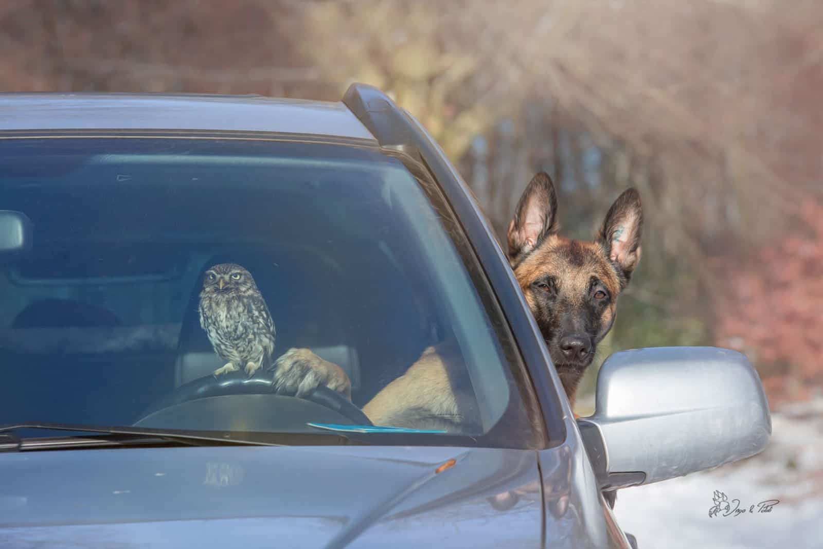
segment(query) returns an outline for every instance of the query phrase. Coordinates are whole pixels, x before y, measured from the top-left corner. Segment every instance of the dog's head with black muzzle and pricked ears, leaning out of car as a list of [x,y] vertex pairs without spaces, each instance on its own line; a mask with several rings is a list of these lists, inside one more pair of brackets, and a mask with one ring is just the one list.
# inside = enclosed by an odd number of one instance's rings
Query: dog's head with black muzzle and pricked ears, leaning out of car
[[509,263],[574,407],[580,378],[611,330],[617,296],[640,259],[639,193],[630,188],[617,198],[594,241],[560,237],[557,230],[554,185],[537,173],[509,224]]

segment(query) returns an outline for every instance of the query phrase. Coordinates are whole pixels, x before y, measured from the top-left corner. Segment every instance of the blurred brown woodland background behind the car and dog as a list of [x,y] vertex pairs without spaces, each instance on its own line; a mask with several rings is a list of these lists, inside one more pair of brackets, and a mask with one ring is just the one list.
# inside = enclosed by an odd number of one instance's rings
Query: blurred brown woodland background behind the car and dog
[[578,238],[637,187],[643,260],[600,358],[737,348],[774,406],[823,386],[821,25],[819,0],[18,0],[0,5],[0,88],[339,100],[377,85],[501,237],[539,169]]

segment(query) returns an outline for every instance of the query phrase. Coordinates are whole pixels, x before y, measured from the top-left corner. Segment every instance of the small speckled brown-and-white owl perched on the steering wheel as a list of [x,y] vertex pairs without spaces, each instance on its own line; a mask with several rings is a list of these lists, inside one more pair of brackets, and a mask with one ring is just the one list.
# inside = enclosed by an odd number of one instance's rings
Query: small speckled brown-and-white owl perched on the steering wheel
[[199,308],[202,329],[215,353],[226,361],[215,376],[243,368],[251,377],[272,358],[277,332],[248,270],[233,263],[207,270]]

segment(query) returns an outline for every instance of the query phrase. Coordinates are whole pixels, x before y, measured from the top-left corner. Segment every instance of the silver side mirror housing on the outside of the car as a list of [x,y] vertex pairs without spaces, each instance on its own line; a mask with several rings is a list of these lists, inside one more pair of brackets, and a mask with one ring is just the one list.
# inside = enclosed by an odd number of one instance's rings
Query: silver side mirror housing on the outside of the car
[[754,367],[714,347],[614,353],[597,376],[595,413],[578,425],[602,490],[747,458],[771,436]]

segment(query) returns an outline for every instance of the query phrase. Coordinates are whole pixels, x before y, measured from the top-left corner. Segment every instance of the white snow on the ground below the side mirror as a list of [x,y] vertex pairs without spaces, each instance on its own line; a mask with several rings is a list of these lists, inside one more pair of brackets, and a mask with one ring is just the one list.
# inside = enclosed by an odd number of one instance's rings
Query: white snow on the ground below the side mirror
[[[709,517],[714,491],[733,510]],[[779,500],[770,513],[751,505]],[[772,413],[772,437],[760,454],[617,494],[615,514],[639,549],[823,548],[823,398]]]

